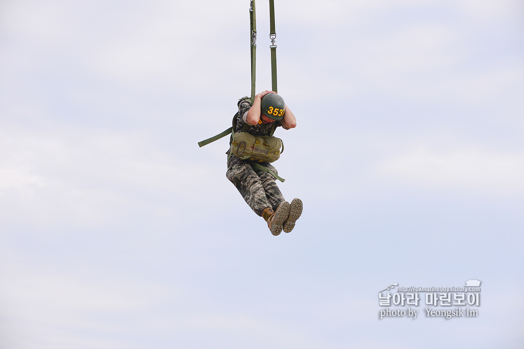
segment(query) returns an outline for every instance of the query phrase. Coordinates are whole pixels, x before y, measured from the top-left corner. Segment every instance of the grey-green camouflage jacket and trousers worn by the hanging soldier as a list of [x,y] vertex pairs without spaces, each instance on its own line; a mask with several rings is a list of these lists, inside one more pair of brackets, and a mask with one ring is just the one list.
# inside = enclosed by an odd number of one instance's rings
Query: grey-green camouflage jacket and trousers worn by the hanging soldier
[[[242,117],[250,107],[251,104],[247,101],[241,100],[238,102],[235,133],[242,131],[246,124]],[[280,121],[274,121],[269,124],[261,123],[249,126],[247,132],[255,136],[269,136],[273,123],[277,123],[277,127],[282,126]],[[278,174],[277,169],[270,163],[260,162],[260,165]],[[265,208],[276,210],[282,201],[286,201],[277,183],[275,183],[276,178],[272,174],[254,170],[248,161],[241,160],[234,155],[231,155],[227,161],[226,176],[242,194],[249,207],[259,216],[262,216],[262,211]]]

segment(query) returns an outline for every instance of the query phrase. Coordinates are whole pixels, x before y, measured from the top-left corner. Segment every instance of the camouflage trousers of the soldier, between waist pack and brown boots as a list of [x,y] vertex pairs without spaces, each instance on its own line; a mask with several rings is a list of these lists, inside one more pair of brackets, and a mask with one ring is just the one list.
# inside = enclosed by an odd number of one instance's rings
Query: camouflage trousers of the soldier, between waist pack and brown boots
[[[260,165],[278,174],[277,169],[268,162]],[[226,177],[241,193],[249,207],[259,216],[266,208],[276,210],[282,201],[286,201],[275,183],[276,178],[268,172],[254,170],[249,162],[234,155],[227,161]]]

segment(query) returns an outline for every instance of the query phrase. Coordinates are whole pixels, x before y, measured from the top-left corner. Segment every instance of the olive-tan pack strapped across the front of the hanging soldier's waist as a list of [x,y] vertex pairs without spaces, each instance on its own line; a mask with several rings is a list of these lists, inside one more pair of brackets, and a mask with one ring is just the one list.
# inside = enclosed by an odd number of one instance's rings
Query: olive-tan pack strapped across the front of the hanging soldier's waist
[[231,152],[242,160],[273,162],[278,160],[283,151],[282,139],[274,136],[254,136],[248,132],[237,132],[231,142]]

